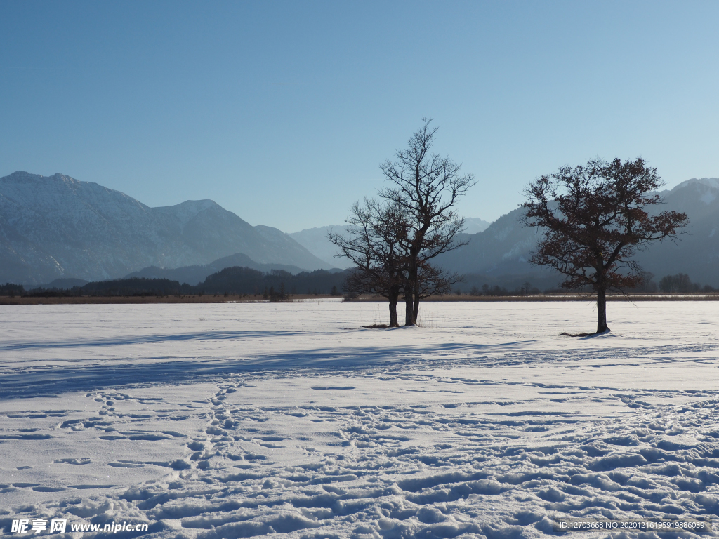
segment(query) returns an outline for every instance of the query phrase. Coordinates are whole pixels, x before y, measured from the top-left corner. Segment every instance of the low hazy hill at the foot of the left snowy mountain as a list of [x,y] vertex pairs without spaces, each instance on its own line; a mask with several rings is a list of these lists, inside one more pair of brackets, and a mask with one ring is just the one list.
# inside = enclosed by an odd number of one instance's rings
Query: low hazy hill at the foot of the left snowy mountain
[[[275,229],[276,230],[276,229]],[[144,267],[142,270],[132,272],[125,275],[125,279],[132,277],[145,277],[145,279],[169,279],[180,283],[186,282],[188,285],[198,285],[203,282],[209,275],[221,272],[226,267],[247,267],[252,270],[269,273],[272,270],[282,270],[290,274],[297,274],[303,271],[297,266],[285,266],[283,264],[260,264],[247,256],[247,254],[237,253],[229,257],[224,257],[211,262],[210,264],[183,266],[165,269],[157,266]]]

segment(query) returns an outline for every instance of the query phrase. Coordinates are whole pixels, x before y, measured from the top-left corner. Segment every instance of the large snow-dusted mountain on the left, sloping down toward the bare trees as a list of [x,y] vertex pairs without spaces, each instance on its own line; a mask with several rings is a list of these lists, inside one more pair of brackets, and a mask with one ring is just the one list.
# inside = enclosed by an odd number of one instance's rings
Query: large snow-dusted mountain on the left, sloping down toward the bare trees
[[263,233],[209,200],[150,208],[62,174],[0,178],[2,282],[112,279],[143,267],[209,264],[236,253],[262,264],[329,267],[286,234],[270,230],[275,233]]

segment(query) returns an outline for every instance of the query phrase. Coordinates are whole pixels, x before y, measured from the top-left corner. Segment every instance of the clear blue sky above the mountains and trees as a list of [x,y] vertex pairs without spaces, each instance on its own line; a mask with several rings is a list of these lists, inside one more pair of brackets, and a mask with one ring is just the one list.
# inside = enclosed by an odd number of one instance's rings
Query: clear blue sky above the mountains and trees
[[671,187],[719,176],[718,26],[718,1],[2,1],[0,176],[292,232],[341,223],[432,116],[464,216],[597,156]]

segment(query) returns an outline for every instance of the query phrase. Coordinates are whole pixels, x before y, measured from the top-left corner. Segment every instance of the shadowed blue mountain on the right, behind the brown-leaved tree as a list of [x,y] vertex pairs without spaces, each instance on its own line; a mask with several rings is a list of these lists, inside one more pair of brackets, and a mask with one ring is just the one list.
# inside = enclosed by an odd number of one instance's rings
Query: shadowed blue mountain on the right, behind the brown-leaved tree
[[[690,227],[676,244],[671,241],[651,244],[636,259],[656,280],[664,275],[687,273],[694,282],[719,287],[719,179],[693,178],[660,194],[664,203],[654,210],[684,211],[690,218]],[[452,271],[485,275],[492,280],[521,278],[545,286],[559,282],[561,277],[556,272],[528,263],[539,231],[523,228],[522,215],[523,209],[517,208],[485,231],[462,236],[470,243],[437,257],[436,263]]]

